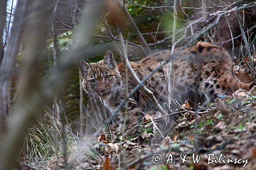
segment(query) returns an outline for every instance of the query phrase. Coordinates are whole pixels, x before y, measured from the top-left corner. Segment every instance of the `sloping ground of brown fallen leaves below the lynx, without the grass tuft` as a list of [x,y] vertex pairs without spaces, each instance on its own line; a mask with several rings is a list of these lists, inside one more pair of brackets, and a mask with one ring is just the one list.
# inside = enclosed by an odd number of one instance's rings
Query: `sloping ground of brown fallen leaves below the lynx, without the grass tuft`
[[[157,123],[141,126],[139,136],[122,142],[120,135],[112,138],[112,142],[100,135],[90,154],[84,155],[76,168],[116,169],[121,157],[120,164],[128,166],[127,169],[241,169],[243,165],[245,169],[255,169],[256,86],[250,91],[238,90],[223,100],[217,99],[207,111],[196,116],[189,112],[182,114],[175,128],[164,135],[156,128]],[[158,142],[153,142],[156,138]],[[156,153],[162,156],[160,164],[152,163]],[[201,155],[198,163],[193,163],[193,153]],[[211,155],[207,155],[210,153],[217,156],[211,160],[227,161],[232,155],[230,159],[237,162],[210,163]],[[187,161],[182,163],[181,157],[184,157],[180,154],[187,154]],[[221,154],[225,158],[221,158]],[[167,158],[173,160],[166,165]],[[157,156],[153,160],[158,163]]]

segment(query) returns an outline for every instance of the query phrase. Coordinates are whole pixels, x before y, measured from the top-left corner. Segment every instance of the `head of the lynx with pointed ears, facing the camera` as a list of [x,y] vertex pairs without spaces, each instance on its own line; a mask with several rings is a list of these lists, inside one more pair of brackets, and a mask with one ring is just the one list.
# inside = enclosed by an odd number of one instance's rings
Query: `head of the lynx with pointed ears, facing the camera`
[[83,76],[83,89],[93,98],[115,95],[122,89],[122,80],[113,53],[107,51],[96,63],[82,62],[79,66]]

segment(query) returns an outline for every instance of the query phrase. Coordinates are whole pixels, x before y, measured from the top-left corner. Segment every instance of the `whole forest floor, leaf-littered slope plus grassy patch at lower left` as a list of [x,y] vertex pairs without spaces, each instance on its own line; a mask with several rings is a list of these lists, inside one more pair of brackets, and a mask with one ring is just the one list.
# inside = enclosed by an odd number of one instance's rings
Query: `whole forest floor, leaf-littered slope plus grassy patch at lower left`
[[[183,113],[179,114],[177,122],[172,125],[173,128],[167,130],[166,133],[163,133],[160,128],[161,123],[155,121],[152,114],[148,114],[143,120],[145,124],[136,127],[140,132],[139,135],[123,136],[124,138],[121,140],[121,132],[114,133],[111,137],[109,134],[101,134],[93,141],[91,147],[87,147],[82,154],[78,155],[78,161],[74,156],[74,151],[81,147],[82,142],[74,137],[75,135],[72,137],[74,132],[67,128],[66,137],[70,136],[66,141],[69,168],[118,169],[118,166],[122,166],[120,169],[124,169],[123,167],[126,166],[126,169],[217,170],[242,169],[243,165],[245,165],[244,169],[256,168],[256,86],[250,91],[238,90],[225,99],[217,99],[215,102],[207,104],[207,107],[204,108],[207,113],[192,114],[192,108],[188,104],[184,104],[183,107],[187,111],[183,110]],[[49,129],[45,130],[49,126],[37,126],[37,128],[33,128],[34,131],[30,131],[29,134],[33,137],[28,140],[27,145],[33,143],[31,151],[28,151],[31,158],[23,158],[21,163],[23,169],[63,167],[62,152],[54,154],[56,143],[50,140],[50,138],[56,137],[51,134],[43,140],[43,136],[50,131]],[[54,126],[56,125],[51,125],[51,127]],[[43,143],[44,141],[45,143]],[[41,146],[40,143],[42,143]],[[35,146],[39,146],[36,159],[33,156],[36,153]],[[46,151],[45,155],[42,153],[44,150]],[[49,156],[49,153],[52,153],[52,156]],[[159,164],[152,162],[152,156],[156,153],[162,156],[162,161]],[[193,162],[193,153],[195,157],[201,155],[198,163]],[[217,158],[211,158],[211,160],[220,159],[220,161],[227,161],[232,155],[230,159],[237,159],[237,162],[208,164],[208,158],[211,155],[207,154],[215,154]],[[222,158],[220,158],[221,154]],[[186,155],[185,158],[184,155]],[[225,158],[223,158],[224,155]],[[156,163],[159,161],[157,158],[160,158],[158,156],[153,156],[153,161]],[[33,161],[31,161],[32,157]],[[169,161],[166,164],[168,158]],[[182,162],[181,158],[187,161]],[[71,162],[72,160],[76,161]]]

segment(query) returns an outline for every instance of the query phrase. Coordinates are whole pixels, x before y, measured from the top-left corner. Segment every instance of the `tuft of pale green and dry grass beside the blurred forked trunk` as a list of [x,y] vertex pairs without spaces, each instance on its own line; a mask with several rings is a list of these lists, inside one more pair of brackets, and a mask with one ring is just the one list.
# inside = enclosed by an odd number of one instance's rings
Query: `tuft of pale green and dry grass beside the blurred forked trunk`
[[[67,117],[65,117],[66,122]],[[51,113],[38,120],[30,129],[22,150],[22,162],[36,168],[45,168],[57,164],[63,157],[63,140],[66,142],[67,154],[78,141],[72,132],[71,124],[65,126],[65,138],[61,137],[62,125]]]

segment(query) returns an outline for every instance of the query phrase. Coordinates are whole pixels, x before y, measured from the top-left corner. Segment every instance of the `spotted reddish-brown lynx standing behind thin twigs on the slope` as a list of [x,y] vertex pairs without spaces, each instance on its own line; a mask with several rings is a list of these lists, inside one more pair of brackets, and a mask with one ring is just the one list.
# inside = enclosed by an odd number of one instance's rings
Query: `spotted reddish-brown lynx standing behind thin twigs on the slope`
[[[169,57],[170,51],[165,50],[130,63],[142,80]],[[192,103],[214,100],[219,94],[230,94],[238,88],[249,87],[249,84],[234,78],[231,57],[218,45],[200,41],[181,52],[176,51],[173,58],[170,96],[179,104],[187,100]],[[168,101],[169,96],[166,83],[168,67],[168,64],[162,66],[144,83],[144,86],[154,92],[162,105]],[[137,85],[131,75],[128,76],[126,85],[125,64],[123,62],[117,64],[111,51],[107,51],[99,62],[91,64],[83,62],[80,69],[84,75],[83,89],[91,98],[98,99],[102,96],[110,112],[125,99],[126,92],[130,92]],[[175,102],[172,107],[175,107]],[[154,106],[142,89],[138,89],[127,103],[128,126],[136,123],[148,108]],[[121,121],[124,110],[123,108],[119,112]]]

